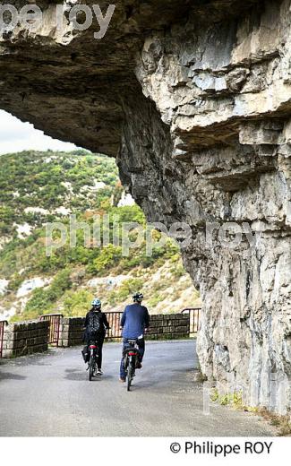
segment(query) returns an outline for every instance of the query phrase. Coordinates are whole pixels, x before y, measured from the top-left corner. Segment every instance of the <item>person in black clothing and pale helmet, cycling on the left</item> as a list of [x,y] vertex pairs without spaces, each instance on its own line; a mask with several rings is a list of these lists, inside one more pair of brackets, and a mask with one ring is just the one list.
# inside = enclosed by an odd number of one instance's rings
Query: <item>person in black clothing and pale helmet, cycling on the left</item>
[[93,299],[92,308],[86,315],[85,327],[86,329],[84,332],[84,341],[86,342],[86,346],[82,350],[84,361],[88,362],[90,358],[90,343],[97,343],[97,374],[102,375],[102,347],[106,331],[110,327],[107,321],[107,316],[103,312],[101,312],[101,301],[99,299]]

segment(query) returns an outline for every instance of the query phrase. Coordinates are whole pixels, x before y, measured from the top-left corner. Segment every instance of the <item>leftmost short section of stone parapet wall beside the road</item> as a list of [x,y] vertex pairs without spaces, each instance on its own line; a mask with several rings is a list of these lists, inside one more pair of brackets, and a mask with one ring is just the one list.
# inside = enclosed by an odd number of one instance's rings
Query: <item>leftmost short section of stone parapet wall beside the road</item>
[[4,327],[3,358],[47,351],[48,322],[30,321]]

